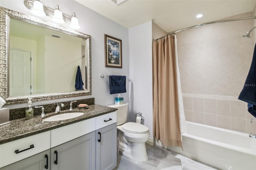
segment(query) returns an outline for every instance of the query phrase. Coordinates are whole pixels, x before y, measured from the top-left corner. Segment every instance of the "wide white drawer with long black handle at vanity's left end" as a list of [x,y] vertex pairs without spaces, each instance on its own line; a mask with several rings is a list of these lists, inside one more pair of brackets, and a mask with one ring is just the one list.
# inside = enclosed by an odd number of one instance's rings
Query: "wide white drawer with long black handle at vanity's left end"
[[0,168],[50,149],[51,132],[43,132],[0,145]]

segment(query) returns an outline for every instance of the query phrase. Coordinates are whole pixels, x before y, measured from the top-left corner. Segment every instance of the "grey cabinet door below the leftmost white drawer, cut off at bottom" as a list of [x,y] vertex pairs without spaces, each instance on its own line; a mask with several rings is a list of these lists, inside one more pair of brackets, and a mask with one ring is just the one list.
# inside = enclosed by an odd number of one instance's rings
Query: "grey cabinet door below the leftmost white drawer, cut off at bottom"
[[0,168],[0,170],[50,170],[50,149]]

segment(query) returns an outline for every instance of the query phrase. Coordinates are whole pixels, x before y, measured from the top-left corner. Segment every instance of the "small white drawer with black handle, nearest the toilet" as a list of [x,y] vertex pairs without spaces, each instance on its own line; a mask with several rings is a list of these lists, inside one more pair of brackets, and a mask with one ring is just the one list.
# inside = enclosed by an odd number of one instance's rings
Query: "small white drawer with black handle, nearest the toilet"
[[116,111],[96,117],[96,130],[116,123]]

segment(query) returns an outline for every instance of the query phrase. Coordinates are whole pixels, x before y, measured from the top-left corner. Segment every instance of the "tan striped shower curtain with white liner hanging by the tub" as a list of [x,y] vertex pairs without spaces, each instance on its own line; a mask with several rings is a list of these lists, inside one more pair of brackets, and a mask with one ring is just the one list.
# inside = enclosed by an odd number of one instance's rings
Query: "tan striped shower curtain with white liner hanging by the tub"
[[186,132],[176,36],[153,42],[153,136],[165,146],[182,147]]

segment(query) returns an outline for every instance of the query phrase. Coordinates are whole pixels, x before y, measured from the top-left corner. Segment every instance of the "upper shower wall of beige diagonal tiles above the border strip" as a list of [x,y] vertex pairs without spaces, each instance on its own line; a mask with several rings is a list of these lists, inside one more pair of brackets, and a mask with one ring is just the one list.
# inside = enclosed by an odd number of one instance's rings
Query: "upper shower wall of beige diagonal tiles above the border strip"
[[[252,13],[236,18],[246,16]],[[253,38],[242,35],[253,27],[252,22],[211,24],[177,34],[183,93],[239,95],[254,49]]]

